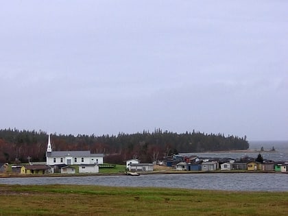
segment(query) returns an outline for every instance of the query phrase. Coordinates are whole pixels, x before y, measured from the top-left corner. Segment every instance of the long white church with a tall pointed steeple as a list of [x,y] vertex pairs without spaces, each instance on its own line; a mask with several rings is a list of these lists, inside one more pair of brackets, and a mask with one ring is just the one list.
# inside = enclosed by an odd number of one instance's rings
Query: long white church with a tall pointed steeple
[[47,165],[93,165],[103,164],[104,154],[91,154],[90,151],[56,151],[53,152],[48,136],[46,151]]

